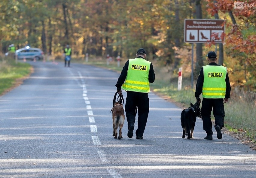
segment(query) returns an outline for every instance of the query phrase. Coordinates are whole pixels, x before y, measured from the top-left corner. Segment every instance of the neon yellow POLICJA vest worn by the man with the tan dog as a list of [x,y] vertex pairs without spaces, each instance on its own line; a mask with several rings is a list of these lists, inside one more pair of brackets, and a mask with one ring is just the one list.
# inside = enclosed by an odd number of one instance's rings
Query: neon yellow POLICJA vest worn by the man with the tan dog
[[135,58],[129,59],[127,76],[122,89],[126,91],[149,93],[148,74],[151,62]]

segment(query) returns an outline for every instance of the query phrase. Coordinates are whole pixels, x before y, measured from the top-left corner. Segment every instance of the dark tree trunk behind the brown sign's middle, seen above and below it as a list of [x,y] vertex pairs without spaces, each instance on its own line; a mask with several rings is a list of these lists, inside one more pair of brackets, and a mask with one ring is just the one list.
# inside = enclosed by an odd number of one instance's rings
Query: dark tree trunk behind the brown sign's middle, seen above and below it
[[[201,0],[196,0],[196,18],[197,19],[202,19],[202,7],[201,7]],[[197,63],[196,63],[196,70],[195,73],[199,74],[201,67],[203,66],[203,44],[202,43],[197,43],[197,48],[196,48],[196,57],[197,57]]]

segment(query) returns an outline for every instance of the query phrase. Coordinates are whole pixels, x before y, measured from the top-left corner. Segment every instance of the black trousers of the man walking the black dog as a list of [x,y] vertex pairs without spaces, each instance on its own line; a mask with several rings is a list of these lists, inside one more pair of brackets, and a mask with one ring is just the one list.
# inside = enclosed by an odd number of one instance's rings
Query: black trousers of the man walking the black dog
[[207,135],[212,135],[212,121],[211,121],[211,112],[213,110],[213,116],[215,118],[215,125],[219,125],[224,127],[224,104],[223,98],[218,99],[210,99],[210,98],[203,98],[202,101],[202,120],[203,120],[203,130],[206,131]]

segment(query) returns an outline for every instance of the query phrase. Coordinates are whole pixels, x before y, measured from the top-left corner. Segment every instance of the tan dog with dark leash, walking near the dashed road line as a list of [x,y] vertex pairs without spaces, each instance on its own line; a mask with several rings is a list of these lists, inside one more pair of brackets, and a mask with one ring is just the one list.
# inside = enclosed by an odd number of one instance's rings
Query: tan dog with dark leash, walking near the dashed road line
[[[119,127],[119,135],[118,135],[118,139],[122,139],[122,128],[123,128],[123,123],[125,120],[125,116],[124,116],[124,110],[123,110],[123,95],[119,95],[117,97],[117,102],[116,100],[116,95],[117,92],[115,93],[114,96],[114,100],[113,100],[113,108],[111,109],[112,111],[112,119],[113,119],[113,136],[115,139],[117,139],[117,129]],[[118,100],[119,98],[119,100]],[[110,111],[110,112],[111,112]]]

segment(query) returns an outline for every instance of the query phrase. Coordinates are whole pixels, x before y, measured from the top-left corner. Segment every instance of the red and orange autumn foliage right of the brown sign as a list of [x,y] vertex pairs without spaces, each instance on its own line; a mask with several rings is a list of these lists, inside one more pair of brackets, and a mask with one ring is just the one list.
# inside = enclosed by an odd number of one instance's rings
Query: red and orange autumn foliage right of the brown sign
[[[233,0],[210,1],[207,11],[214,16],[216,13],[228,13],[230,20],[226,19],[226,33],[223,35],[224,45],[229,48],[227,54],[234,61],[228,61],[229,74],[234,86],[247,86],[255,90],[256,65],[256,34],[255,34],[255,1],[244,2],[242,9],[234,8]],[[255,4],[256,5],[256,4]],[[210,42],[208,46],[214,44]]]

